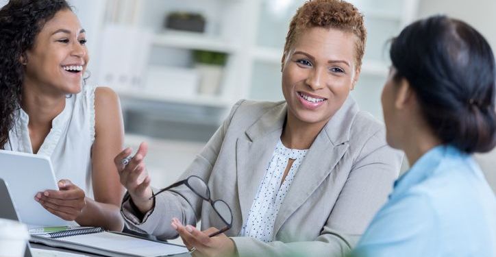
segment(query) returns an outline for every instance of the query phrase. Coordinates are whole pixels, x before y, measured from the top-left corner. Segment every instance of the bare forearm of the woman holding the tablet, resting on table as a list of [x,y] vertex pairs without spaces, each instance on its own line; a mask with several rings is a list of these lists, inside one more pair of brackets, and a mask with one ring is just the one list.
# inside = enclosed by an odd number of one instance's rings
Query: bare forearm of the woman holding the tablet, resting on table
[[82,226],[102,227],[106,230],[122,231],[124,221],[119,206],[105,204],[86,197],[86,207],[76,222]]

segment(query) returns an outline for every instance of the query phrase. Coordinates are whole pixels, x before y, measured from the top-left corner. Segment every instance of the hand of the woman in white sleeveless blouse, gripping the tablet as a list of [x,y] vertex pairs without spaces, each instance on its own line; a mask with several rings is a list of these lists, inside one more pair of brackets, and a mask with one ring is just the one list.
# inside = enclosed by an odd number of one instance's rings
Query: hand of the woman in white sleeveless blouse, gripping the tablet
[[59,191],[39,192],[34,199],[53,215],[66,221],[74,221],[86,207],[84,191],[70,180],[60,180],[58,187]]

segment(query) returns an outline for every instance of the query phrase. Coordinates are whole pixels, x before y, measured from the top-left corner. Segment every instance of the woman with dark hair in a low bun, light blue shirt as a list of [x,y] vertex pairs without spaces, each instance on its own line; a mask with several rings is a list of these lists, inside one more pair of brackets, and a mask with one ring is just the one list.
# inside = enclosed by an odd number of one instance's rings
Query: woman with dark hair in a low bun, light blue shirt
[[496,197],[471,157],[496,143],[491,47],[467,23],[432,16],[406,27],[390,58],[386,138],[412,167],[354,256],[496,256]]

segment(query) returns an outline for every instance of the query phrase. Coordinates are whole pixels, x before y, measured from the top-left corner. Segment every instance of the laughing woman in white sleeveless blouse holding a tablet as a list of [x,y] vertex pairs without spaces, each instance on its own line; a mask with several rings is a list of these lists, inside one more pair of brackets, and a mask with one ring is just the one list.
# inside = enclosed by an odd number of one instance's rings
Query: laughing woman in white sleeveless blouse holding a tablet
[[[49,156],[59,191],[34,195],[79,225],[122,230],[119,99],[83,83],[86,36],[64,0],[12,0],[0,10],[0,147]],[[19,178],[29,180],[29,178]]]

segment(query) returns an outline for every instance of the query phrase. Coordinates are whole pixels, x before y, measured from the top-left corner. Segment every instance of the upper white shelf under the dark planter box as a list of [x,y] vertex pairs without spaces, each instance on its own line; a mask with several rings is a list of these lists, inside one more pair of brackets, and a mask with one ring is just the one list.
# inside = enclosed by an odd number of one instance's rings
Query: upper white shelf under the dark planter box
[[197,49],[233,53],[237,47],[227,40],[213,36],[205,36],[195,32],[176,32],[167,30],[156,34],[153,45],[182,49]]

